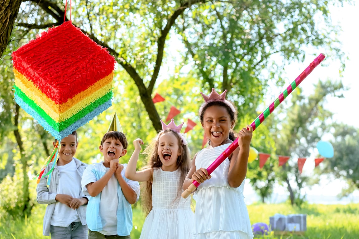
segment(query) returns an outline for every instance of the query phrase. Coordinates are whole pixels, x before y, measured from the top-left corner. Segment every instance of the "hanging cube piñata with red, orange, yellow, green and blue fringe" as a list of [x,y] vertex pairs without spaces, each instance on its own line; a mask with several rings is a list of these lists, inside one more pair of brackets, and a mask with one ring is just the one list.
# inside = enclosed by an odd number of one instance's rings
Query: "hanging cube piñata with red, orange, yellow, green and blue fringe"
[[13,52],[15,101],[56,139],[111,106],[115,59],[71,21]]

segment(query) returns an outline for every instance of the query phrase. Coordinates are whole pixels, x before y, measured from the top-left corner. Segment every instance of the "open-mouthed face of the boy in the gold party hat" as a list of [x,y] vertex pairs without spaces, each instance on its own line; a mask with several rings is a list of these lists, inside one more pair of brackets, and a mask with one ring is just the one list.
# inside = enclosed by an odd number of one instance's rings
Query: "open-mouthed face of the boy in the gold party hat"
[[110,166],[112,159],[118,159],[127,153],[127,149],[123,148],[121,141],[115,138],[104,140],[103,144],[100,145],[100,151],[104,157],[103,165],[107,168]]

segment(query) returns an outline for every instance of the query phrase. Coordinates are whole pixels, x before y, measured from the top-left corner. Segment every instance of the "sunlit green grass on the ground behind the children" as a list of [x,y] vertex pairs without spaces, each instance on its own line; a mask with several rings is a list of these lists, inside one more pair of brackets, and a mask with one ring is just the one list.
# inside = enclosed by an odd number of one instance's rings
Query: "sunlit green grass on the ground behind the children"
[[[0,211],[0,239],[49,239],[42,235],[42,218],[46,205],[36,205],[31,217],[12,218]],[[307,231],[304,235],[260,236],[257,239],[359,239],[359,204],[304,205],[302,208],[288,204],[248,205],[251,223],[269,224],[269,217],[280,214],[307,214]],[[138,204],[133,209],[132,239],[140,237],[144,215]],[[159,225],[160,226],[160,225]]]

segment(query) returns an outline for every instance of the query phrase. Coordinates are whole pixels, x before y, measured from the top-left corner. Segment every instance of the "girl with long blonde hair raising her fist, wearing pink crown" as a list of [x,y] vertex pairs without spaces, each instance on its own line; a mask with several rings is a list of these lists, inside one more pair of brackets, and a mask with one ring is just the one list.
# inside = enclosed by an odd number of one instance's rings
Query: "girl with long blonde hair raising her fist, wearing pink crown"
[[[162,122],[162,120],[161,120]],[[134,140],[135,151],[126,168],[126,178],[145,183],[142,202],[146,219],[140,239],[190,239],[194,213],[191,198],[181,197],[182,183],[190,169],[187,141],[180,134],[182,125],[162,122],[153,142],[146,147],[145,169],[136,172],[141,139]]]

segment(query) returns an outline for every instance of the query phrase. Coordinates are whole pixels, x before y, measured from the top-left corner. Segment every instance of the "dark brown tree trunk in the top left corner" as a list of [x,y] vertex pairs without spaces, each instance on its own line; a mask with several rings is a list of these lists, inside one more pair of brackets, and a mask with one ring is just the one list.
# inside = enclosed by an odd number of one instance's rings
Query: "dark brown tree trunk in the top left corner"
[[0,56],[8,46],[22,0],[0,0]]

